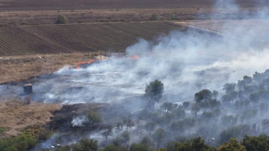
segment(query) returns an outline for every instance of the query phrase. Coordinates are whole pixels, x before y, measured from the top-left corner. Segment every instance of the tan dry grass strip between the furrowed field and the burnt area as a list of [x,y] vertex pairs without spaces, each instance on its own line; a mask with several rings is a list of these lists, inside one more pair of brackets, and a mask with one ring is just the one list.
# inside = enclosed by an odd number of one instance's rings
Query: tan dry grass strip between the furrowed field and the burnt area
[[[104,58],[102,56],[102,60]],[[87,53],[3,57],[0,59],[0,84],[28,80],[33,76],[57,71],[65,65],[75,68],[77,62],[89,61],[90,59],[91,54],[88,56]],[[100,59],[100,56],[97,59]]]

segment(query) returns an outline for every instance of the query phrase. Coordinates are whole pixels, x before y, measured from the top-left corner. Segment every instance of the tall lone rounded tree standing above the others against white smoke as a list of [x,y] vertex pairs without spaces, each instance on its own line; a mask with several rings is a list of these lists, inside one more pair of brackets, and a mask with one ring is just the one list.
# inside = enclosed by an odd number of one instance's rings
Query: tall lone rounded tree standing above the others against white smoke
[[145,96],[151,101],[151,105],[154,108],[156,102],[162,98],[164,85],[161,81],[152,81],[149,85],[146,84]]

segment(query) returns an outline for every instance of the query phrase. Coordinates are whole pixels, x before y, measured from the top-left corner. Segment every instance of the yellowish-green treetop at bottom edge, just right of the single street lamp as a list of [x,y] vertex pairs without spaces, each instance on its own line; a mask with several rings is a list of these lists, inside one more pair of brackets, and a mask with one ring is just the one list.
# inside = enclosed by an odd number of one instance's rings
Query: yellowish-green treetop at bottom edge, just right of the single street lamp
[[246,151],[246,148],[238,143],[236,139],[231,138],[229,142],[217,148],[217,151]]

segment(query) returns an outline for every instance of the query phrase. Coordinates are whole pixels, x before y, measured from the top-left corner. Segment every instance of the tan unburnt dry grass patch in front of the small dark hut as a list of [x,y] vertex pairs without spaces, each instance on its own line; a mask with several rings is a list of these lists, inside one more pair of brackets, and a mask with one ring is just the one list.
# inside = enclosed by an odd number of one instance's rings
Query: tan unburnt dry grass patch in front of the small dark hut
[[0,102],[0,125],[7,127],[5,135],[17,136],[26,128],[40,128],[50,122],[52,112],[61,109],[59,104],[31,103],[19,98]]

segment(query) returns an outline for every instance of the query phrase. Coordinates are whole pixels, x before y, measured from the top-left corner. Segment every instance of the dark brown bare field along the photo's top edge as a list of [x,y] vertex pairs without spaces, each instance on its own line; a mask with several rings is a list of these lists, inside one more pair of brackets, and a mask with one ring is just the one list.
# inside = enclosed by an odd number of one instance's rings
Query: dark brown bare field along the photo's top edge
[[[240,6],[264,6],[268,1],[236,0]],[[121,8],[183,8],[211,7],[216,0],[47,0],[47,1],[0,1],[0,10],[72,10],[72,9],[121,9]]]

